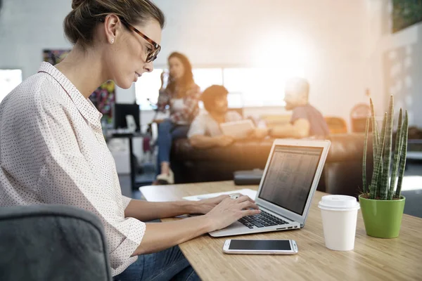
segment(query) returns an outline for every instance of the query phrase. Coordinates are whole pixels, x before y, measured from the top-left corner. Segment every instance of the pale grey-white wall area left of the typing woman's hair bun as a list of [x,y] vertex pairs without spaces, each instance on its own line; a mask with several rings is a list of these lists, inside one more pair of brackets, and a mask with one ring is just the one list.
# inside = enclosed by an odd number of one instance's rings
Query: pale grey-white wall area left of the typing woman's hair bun
[[0,16],[0,67],[23,70],[23,79],[36,73],[44,48],[70,48],[62,22],[68,0],[4,0]]

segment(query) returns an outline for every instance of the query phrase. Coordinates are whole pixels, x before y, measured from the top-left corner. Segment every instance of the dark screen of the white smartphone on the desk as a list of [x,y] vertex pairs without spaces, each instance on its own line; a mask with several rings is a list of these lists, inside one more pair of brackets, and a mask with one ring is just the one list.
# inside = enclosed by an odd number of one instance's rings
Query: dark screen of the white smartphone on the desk
[[290,240],[231,240],[231,250],[291,251]]

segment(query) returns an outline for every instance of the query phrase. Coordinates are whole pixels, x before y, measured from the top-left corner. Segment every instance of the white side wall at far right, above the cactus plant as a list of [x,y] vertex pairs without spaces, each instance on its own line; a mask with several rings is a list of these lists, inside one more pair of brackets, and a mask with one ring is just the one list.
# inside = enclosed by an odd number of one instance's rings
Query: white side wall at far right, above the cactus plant
[[409,110],[409,124],[421,127],[422,23],[392,34],[391,5],[391,0],[367,0],[369,87],[378,112],[388,107],[392,94],[395,112]]

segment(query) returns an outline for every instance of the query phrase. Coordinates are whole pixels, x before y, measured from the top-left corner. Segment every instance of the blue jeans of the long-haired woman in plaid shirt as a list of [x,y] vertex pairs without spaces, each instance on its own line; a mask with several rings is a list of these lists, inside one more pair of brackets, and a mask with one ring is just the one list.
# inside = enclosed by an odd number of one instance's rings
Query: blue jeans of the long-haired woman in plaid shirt
[[172,150],[173,140],[177,138],[186,138],[189,131],[189,125],[177,125],[170,119],[165,119],[158,125],[158,159],[157,174],[161,174],[161,163],[170,163],[170,152]]

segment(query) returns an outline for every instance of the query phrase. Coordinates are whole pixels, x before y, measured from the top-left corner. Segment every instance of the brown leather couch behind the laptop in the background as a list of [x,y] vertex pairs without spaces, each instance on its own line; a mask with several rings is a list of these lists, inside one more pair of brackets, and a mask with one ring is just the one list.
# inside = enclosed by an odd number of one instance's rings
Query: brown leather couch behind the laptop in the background
[[[357,196],[362,188],[364,134],[328,137],[328,152],[318,190]],[[264,169],[273,140],[237,142],[227,148],[196,149],[187,139],[174,142],[170,162],[176,183],[229,181],[234,171]],[[369,139],[367,175],[371,177],[372,141]]]

